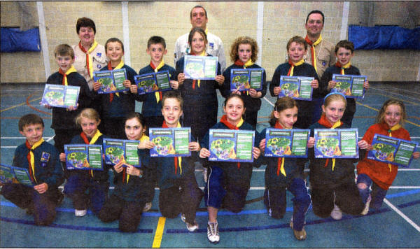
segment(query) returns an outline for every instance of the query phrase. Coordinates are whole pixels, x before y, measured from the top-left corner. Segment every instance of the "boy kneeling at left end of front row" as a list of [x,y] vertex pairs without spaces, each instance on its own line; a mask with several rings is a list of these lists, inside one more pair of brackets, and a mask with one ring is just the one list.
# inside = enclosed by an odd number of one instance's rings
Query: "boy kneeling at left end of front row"
[[43,140],[43,120],[27,114],[19,120],[19,132],[27,138],[15,150],[13,166],[28,169],[34,187],[20,183],[6,183],[3,197],[34,215],[35,225],[48,226],[55,219],[55,208],[62,201],[58,186],[64,182],[58,151]]

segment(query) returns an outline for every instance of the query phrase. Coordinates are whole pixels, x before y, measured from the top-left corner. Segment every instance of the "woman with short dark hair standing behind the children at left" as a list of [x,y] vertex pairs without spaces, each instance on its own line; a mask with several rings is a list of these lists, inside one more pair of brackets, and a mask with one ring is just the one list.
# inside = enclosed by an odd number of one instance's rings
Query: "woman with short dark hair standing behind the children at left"
[[78,73],[85,77],[89,89],[92,90],[93,71],[99,71],[106,66],[108,59],[106,58],[104,45],[94,41],[96,34],[96,26],[93,20],[82,17],[76,22],[76,31],[80,38],[78,44],[73,45],[74,64]]

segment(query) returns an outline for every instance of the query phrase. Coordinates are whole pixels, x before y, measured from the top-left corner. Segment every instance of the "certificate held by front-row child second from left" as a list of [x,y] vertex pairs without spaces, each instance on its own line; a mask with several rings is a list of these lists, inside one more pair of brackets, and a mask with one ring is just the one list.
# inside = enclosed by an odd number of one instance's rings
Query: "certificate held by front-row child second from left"
[[104,170],[102,165],[102,145],[64,145],[67,169]]

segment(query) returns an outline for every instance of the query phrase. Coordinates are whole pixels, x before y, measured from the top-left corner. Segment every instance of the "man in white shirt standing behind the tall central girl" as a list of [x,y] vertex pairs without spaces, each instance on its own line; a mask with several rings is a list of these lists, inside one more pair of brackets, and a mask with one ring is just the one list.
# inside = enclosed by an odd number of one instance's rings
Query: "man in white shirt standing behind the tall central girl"
[[[223,43],[221,38],[218,38],[218,36],[207,31],[207,22],[209,22],[209,19],[207,19],[207,11],[202,6],[195,6],[190,12],[190,22],[191,25],[193,25],[193,28],[200,27],[206,31],[207,40],[209,41],[206,52],[209,55],[218,57],[218,62],[221,64],[221,71],[225,71],[226,58]],[[189,32],[179,36],[176,40],[174,64],[176,64],[176,61],[181,59],[181,57],[188,55],[191,52],[190,45],[188,44],[188,34]]]

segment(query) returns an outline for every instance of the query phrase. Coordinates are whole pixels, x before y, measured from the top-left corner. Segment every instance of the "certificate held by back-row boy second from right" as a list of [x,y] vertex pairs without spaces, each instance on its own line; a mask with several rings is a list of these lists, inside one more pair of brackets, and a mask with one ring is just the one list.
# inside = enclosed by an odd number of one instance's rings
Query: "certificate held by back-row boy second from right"
[[312,80],[314,77],[280,76],[279,98],[292,97],[293,99],[312,100]]

